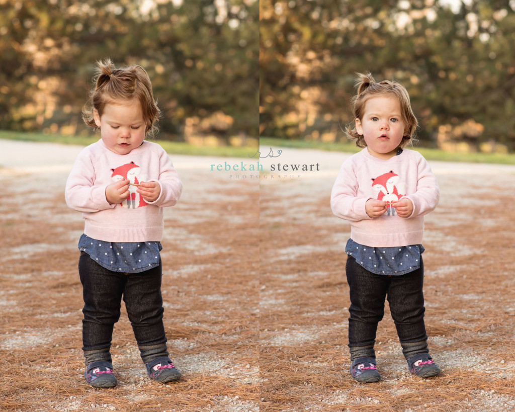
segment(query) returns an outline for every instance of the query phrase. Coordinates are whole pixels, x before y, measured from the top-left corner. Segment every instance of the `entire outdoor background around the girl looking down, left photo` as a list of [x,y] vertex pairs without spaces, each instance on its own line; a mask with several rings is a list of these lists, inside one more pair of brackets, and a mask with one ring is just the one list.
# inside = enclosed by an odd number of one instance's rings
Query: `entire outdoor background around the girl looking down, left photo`
[[[259,411],[259,180],[213,169],[256,152],[258,13],[257,0],[0,0],[0,410]],[[84,224],[64,187],[98,139],[81,110],[106,57],[149,73],[184,187],[163,212],[174,386],[146,377],[124,304],[116,390],[83,378]]]

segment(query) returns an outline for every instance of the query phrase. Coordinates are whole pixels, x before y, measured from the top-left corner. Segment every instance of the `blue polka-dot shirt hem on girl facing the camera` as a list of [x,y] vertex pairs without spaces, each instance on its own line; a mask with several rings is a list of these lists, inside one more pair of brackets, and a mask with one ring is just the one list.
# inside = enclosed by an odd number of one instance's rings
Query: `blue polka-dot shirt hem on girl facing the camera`
[[410,245],[372,248],[349,239],[345,251],[359,265],[372,273],[396,276],[412,272],[420,267],[420,255],[424,252],[424,247]]

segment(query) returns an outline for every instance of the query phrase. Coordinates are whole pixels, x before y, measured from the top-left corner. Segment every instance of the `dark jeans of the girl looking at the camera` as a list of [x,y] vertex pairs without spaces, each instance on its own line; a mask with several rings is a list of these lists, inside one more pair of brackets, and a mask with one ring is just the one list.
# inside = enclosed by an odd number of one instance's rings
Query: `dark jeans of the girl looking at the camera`
[[[374,356],[377,323],[383,319],[385,298],[406,358],[427,352],[424,324],[424,264],[400,276],[375,274],[348,256],[347,282],[350,288],[349,348],[363,348],[360,355]],[[407,353],[409,352],[409,353]],[[408,357],[409,356],[409,357]]]

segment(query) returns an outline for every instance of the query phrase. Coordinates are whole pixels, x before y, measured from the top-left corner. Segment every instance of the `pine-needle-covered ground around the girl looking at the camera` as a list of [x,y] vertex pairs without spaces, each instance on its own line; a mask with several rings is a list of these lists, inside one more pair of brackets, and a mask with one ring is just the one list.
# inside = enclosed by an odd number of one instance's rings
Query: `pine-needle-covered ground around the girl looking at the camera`
[[306,156],[334,173],[261,185],[261,411],[515,409],[515,168],[432,163],[441,201],[426,217],[424,290],[443,372],[431,380],[407,372],[387,309],[376,344],[382,380],[358,384],[346,346],[350,228],[330,210],[345,158],[336,156]]

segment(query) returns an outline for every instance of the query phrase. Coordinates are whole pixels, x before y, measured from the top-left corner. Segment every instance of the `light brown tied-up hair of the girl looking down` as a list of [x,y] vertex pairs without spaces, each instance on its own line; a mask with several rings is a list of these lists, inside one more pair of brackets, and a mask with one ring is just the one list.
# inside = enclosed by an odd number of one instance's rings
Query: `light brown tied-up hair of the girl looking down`
[[135,99],[140,102],[147,135],[156,134],[160,110],[153,98],[150,78],[142,66],[115,68],[110,59],[97,61],[93,82],[90,98],[82,109],[85,124],[96,131],[98,127],[93,116],[95,110],[101,116],[106,104]]

